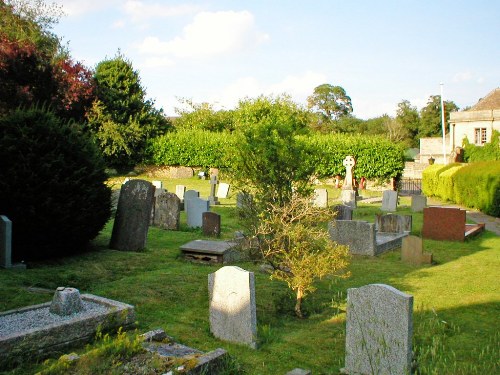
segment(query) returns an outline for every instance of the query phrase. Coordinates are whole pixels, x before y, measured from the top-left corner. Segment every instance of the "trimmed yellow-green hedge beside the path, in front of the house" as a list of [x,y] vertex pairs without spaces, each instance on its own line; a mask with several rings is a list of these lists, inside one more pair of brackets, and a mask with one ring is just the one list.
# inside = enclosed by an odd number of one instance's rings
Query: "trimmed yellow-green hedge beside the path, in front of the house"
[[422,191],[499,217],[500,161],[431,165],[422,173]]

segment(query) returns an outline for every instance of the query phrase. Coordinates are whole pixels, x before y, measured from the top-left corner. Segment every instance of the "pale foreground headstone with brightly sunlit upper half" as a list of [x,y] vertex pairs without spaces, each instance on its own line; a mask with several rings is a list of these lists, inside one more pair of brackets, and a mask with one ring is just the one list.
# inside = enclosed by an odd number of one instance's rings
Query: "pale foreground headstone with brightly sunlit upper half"
[[208,275],[210,331],[219,339],[257,347],[253,272],[225,266]]

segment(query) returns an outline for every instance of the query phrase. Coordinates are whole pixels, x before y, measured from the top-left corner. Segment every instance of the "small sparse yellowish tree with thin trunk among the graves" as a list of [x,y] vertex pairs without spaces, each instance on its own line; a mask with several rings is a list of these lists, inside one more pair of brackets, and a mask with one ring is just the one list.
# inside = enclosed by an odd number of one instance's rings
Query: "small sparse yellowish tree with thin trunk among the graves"
[[314,282],[327,276],[347,277],[348,247],[334,243],[324,223],[334,214],[294,195],[284,206],[270,204],[261,215],[258,235],[271,278],[285,281],[296,294],[295,314],[302,318],[302,300],[315,291]]

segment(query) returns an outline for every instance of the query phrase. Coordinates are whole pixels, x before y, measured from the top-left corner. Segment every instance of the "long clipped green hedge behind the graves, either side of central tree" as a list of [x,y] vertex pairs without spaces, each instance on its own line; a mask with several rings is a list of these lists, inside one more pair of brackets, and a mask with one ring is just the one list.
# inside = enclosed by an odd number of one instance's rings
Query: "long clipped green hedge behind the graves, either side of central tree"
[[[181,130],[155,138],[149,143],[148,163],[190,167],[231,166],[236,154],[238,136],[202,130]],[[353,155],[355,175],[368,179],[389,179],[402,174],[404,149],[384,138],[353,135],[298,136],[309,155],[304,163],[316,168],[319,178],[345,174],[342,161]]]

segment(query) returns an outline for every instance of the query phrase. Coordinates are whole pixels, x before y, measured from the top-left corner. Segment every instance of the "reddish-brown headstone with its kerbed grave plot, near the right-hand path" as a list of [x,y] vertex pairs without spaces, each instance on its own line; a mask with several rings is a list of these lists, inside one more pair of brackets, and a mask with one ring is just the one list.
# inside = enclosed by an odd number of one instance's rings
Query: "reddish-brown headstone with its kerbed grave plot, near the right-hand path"
[[466,224],[466,211],[453,207],[424,208],[422,237],[431,240],[464,241],[484,231],[485,224]]

